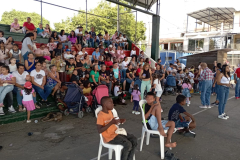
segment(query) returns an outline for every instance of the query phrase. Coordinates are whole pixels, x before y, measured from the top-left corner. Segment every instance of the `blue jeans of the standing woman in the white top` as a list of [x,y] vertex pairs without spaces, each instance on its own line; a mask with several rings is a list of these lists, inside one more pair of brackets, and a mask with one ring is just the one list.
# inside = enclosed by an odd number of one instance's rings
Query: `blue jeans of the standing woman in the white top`
[[222,115],[225,110],[225,106],[228,100],[229,88],[225,86],[218,86],[219,90],[219,105],[218,105],[218,112],[219,115]]

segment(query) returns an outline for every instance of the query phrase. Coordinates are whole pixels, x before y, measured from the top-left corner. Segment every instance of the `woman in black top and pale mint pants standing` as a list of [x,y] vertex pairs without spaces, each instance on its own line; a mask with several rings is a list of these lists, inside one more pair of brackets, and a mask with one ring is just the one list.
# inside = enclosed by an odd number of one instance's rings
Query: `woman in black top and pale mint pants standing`
[[144,92],[145,92],[146,88],[147,88],[147,92],[149,92],[151,89],[152,71],[149,68],[150,68],[149,64],[145,63],[143,66],[143,70],[141,70],[141,72],[140,72],[139,78],[142,79],[141,99],[144,98]]

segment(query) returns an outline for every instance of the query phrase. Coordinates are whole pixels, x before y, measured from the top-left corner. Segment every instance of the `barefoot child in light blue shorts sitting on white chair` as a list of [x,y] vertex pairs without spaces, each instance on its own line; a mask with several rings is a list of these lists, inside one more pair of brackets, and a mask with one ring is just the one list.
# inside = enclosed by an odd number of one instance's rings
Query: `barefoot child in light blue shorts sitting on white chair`
[[[156,103],[155,94],[153,92],[147,93],[146,101],[147,103],[142,107],[145,112],[145,119],[147,120],[148,128],[151,130],[158,130],[162,136],[167,137],[165,144],[166,147],[176,147],[176,142],[171,143],[175,123],[173,121],[162,120],[161,105],[160,103]],[[168,130],[167,135],[164,130]]]

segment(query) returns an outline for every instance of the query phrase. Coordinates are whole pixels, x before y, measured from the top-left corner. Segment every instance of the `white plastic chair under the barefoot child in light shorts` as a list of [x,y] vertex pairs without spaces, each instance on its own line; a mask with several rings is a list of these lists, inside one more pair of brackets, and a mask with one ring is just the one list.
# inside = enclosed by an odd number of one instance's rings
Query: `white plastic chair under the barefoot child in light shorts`
[[[143,120],[143,127],[142,127],[142,137],[141,137],[141,145],[140,145],[140,151],[142,151],[142,147],[143,147],[143,141],[144,141],[144,137],[145,137],[145,133],[146,135],[146,145],[149,145],[149,140],[150,140],[150,134],[157,134],[159,135],[159,140],[160,140],[160,152],[161,152],[161,159],[164,159],[165,157],[165,153],[164,153],[164,137],[160,134],[159,131],[154,131],[154,130],[149,130],[147,128],[146,122],[145,122],[145,112],[143,111],[143,104],[147,103],[146,100],[141,100],[139,102],[140,108],[141,108],[141,112],[142,112],[142,120]],[[167,130],[164,130],[165,133],[167,133]],[[171,150],[172,148],[170,148]]]

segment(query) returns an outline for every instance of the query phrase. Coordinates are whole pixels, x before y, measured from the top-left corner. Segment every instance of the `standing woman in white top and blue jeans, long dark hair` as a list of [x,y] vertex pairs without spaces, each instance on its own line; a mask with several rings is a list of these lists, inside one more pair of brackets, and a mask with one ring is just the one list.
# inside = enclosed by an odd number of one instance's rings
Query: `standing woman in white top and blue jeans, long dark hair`
[[222,66],[222,73],[218,76],[218,94],[219,94],[219,105],[218,105],[218,118],[220,119],[228,119],[229,116],[226,115],[225,106],[228,100],[229,88],[231,87],[230,84],[230,69],[228,65]]

